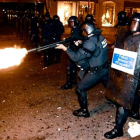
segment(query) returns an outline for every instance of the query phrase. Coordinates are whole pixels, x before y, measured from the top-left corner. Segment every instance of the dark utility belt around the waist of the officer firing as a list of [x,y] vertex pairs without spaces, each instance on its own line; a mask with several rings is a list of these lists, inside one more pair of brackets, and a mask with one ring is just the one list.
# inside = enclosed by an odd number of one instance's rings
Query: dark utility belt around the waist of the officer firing
[[103,65],[91,67],[88,72],[90,72],[91,74],[99,74],[102,69],[108,68],[108,67],[109,67],[109,63],[107,61]]

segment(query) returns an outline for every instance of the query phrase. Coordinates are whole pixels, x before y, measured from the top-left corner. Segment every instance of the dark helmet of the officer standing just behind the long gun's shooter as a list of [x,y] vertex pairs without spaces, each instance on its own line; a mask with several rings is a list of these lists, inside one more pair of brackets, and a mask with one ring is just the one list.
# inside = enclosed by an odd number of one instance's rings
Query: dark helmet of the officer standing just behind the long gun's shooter
[[78,26],[79,25],[79,21],[78,18],[76,16],[71,16],[68,19],[68,26],[69,27],[74,27],[74,26]]

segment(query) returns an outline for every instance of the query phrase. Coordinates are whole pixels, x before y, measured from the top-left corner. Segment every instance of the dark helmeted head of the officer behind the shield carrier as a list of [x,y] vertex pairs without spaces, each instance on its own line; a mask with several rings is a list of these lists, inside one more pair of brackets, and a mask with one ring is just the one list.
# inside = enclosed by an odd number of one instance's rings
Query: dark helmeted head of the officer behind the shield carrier
[[118,23],[114,27],[128,25],[128,18],[125,11],[120,11],[117,16],[118,16]]

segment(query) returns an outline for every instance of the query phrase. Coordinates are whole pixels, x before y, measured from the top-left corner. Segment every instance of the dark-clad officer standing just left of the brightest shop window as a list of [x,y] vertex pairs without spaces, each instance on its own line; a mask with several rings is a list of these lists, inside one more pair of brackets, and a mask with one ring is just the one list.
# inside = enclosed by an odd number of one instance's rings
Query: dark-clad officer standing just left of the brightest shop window
[[[64,33],[64,26],[63,23],[60,21],[60,18],[58,15],[53,16],[53,43],[61,41],[61,36]],[[54,59],[56,57],[56,60],[54,63],[60,63],[61,60],[61,50],[54,49]]]

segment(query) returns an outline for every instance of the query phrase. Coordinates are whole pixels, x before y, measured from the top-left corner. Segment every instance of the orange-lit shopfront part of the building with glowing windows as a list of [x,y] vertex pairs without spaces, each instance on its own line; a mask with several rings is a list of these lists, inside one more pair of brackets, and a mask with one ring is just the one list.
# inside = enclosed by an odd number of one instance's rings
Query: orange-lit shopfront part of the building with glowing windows
[[67,19],[71,15],[78,16],[79,20],[84,20],[86,14],[93,14],[99,27],[113,27],[120,11],[126,11],[128,16],[134,12],[140,12],[140,0],[48,0],[50,13],[58,14],[67,24]]

